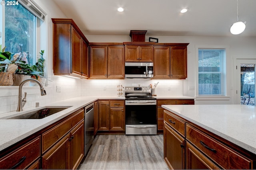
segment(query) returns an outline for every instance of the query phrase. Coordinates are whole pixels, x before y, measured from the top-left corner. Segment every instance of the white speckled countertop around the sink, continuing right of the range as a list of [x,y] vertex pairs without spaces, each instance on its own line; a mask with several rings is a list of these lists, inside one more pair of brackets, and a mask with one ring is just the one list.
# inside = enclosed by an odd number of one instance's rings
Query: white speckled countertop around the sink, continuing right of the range
[[[157,96],[157,99],[190,99],[188,96]],[[193,99],[193,98],[192,98]],[[30,107],[24,111],[12,111],[0,114],[0,151],[25,139],[26,137],[44,129],[48,125],[68,116],[74,111],[81,109],[96,100],[125,100],[124,96],[80,96],[45,104],[40,107]],[[8,119],[40,109],[45,106],[71,106],[58,113],[43,119]]]

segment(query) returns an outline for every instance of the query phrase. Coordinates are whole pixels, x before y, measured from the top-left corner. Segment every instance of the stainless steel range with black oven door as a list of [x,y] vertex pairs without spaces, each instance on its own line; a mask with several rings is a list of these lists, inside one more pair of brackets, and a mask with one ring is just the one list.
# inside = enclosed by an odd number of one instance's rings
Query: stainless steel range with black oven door
[[156,135],[156,98],[150,87],[125,87],[125,134]]

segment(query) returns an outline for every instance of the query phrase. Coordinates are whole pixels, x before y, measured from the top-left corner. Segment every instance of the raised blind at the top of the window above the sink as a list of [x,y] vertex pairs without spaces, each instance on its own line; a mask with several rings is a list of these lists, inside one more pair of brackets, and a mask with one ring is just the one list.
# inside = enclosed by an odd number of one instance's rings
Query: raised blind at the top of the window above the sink
[[46,16],[45,12],[32,0],[17,0],[22,6],[24,6],[27,10],[29,10],[32,14],[34,14],[37,18],[44,21]]

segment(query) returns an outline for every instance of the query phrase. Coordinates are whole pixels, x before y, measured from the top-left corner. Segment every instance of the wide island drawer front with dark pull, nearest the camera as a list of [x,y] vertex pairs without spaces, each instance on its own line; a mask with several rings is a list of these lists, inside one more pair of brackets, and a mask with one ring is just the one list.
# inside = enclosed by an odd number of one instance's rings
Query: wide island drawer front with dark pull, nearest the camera
[[188,124],[186,125],[186,139],[224,169],[252,168],[252,160],[245,158]]

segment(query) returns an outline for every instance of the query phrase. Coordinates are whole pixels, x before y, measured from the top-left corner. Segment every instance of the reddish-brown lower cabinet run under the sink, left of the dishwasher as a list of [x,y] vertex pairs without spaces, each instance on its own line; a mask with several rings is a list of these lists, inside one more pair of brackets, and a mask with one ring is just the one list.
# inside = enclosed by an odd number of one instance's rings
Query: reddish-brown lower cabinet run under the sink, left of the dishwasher
[[0,169],[76,169],[84,158],[84,109],[0,152]]

